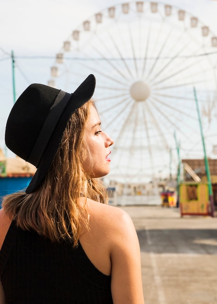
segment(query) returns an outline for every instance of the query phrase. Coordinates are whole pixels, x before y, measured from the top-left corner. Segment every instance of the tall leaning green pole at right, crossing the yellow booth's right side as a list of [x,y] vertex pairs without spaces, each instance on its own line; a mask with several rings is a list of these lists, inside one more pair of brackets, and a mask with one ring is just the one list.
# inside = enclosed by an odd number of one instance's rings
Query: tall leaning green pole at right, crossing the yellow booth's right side
[[195,98],[196,105],[197,105],[198,119],[199,119],[199,123],[200,123],[200,134],[201,134],[201,138],[202,138],[203,153],[204,153],[204,162],[205,162],[206,175],[207,175],[207,181],[208,181],[209,201],[210,201],[210,206],[211,206],[211,215],[212,215],[212,217],[214,217],[215,206],[214,206],[213,188],[212,188],[212,182],[211,182],[209,162],[208,162],[208,159],[206,157],[206,148],[205,148],[205,142],[204,142],[204,137],[203,137],[203,130],[202,130],[202,124],[201,124],[201,119],[200,119],[200,110],[199,110],[198,99],[197,99],[197,94],[196,94],[195,87],[194,87],[194,98]]

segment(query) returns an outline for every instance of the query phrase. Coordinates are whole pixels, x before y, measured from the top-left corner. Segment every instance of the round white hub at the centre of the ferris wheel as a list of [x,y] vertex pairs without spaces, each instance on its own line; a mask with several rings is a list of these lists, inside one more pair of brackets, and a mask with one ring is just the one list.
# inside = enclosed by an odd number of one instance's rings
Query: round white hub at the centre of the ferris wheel
[[145,101],[150,95],[150,87],[144,81],[136,81],[130,88],[131,97],[134,101]]

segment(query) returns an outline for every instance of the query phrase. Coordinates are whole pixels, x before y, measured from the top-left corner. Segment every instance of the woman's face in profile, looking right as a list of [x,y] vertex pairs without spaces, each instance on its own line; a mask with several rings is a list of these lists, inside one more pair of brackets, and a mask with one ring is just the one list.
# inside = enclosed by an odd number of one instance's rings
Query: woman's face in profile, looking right
[[89,148],[89,153],[83,162],[84,171],[91,178],[102,177],[110,171],[109,147],[113,139],[101,130],[101,121],[97,110],[90,106],[90,116],[85,125],[84,137]]

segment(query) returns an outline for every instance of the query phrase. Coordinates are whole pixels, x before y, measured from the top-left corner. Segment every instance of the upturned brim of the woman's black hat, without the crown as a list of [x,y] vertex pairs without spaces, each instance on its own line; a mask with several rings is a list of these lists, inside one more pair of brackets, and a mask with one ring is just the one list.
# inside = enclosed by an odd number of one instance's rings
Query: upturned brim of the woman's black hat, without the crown
[[48,172],[55,153],[59,147],[69,118],[78,108],[91,99],[95,90],[95,85],[96,79],[94,75],[91,74],[74,91],[74,93],[71,94],[71,98],[69,99],[67,106],[65,107],[64,112],[61,115],[50,137],[49,143],[41,157],[37,170],[29,186],[26,188],[26,193],[32,193],[45,178],[45,175]]

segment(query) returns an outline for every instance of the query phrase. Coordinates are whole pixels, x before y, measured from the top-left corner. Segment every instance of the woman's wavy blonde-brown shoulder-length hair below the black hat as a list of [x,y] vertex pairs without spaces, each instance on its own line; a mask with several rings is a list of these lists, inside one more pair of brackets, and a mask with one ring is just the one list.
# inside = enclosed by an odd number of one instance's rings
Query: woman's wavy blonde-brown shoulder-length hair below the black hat
[[86,102],[69,119],[62,141],[50,169],[40,186],[30,194],[17,192],[4,197],[5,213],[23,230],[34,230],[51,241],[66,240],[78,244],[81,226],[88,229],[85,197],[108,202],[108,194],[100,179],[83,171],[83,160],[89,150],[84,139],[85,122],[93,101]]

